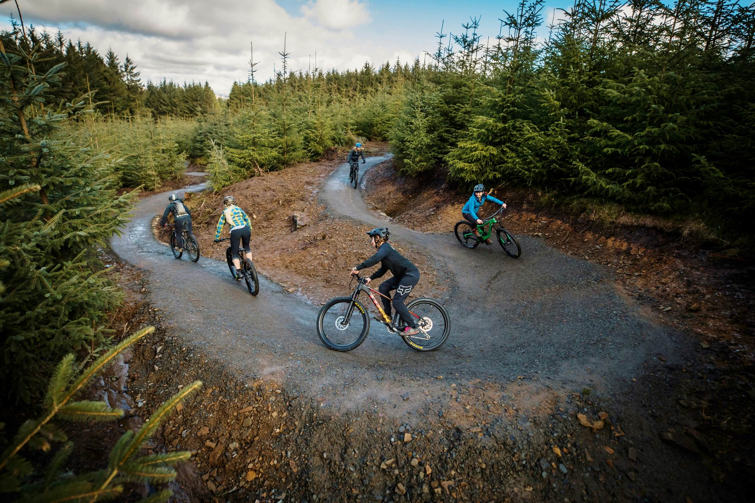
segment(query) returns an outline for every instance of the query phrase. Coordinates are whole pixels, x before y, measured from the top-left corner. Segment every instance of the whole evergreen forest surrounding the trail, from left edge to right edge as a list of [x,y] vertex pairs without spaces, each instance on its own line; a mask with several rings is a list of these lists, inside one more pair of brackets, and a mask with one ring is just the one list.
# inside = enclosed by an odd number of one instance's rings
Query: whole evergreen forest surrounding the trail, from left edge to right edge
[[300,49],[282,36],[279,70],[260,80],[252,46],[248,77],[221,99],[206,82],[145,83],[128,55],[11,19],[0,32],[4,399],[53,403],[48,379],[67,376],[63,389],[73,375],[66,355],[114,351],[108,320],[122,293],[100,251],[138,190],[178,179],[187,160],[220,191],[387,141],[406,176],[695,220],[751,250],[752,5],[575,0],[544,19],[544,0],[521,0],[492,38],[479,19],[451,21],[438,20],[418,59],[358,69],[291,68]]

